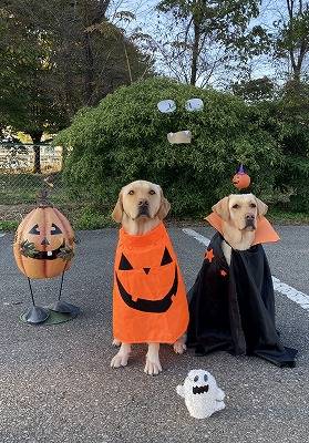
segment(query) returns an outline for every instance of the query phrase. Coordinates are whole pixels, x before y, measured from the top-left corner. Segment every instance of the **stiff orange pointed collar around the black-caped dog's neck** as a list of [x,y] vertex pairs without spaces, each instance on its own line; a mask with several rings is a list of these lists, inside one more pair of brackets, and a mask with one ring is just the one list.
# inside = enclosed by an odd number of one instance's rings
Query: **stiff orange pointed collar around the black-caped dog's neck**
[[[212,213],[205,219],[223,236],[223,219],[217,214]],[[265,218],[264,216],[258,217],[256,236],[253,246],[259,245],[261,243],[275,243],[279,239],[280,237],[272,228],[270,223],[267,220],[267,218]]]

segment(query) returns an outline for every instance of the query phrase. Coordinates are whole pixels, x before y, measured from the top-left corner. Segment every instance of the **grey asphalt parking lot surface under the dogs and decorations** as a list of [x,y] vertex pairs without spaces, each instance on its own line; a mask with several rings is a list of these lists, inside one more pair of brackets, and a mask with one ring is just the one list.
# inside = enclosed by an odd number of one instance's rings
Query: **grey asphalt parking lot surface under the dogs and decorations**
[[[212,229],[195,228],[205,236]],[[280,227],[281,243],[267,246],[272,275],[309,293],[309,227]],[[189,287],[204,246],[171,228]],[[309,312],[277,295],[277,323],[286,344],[299,349],[295,369],[256,358],[215,353],[177,357],[162,348],[164,372],[143,372],[145,347],[130,367],[112,370],[111,288],[116,230],[80,233],[65,277],[64,299],[82,308],[73,321],[31,327],[19,322],[30,306],[27,280],[16,268],[12,236],[0,238],[0,442],[308,442]],[[39,303],[50,303],[59,281],[35,281]],[[189,369],[209,370],[226,392],[226,410],[208,420],[189,418],[175,388]]]

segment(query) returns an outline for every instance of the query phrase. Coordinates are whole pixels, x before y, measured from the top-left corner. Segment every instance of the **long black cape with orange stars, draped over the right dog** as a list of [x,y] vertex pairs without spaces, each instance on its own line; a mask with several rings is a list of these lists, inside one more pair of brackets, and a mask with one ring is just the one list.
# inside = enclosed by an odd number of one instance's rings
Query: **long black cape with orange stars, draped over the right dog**
[[297,350],[284,347],[276,330],[272,279],[262,246],[231,249],[228,267],[222,241],[215,234],[188,293],[187,346],[199,356],[227,350],[295,367]]

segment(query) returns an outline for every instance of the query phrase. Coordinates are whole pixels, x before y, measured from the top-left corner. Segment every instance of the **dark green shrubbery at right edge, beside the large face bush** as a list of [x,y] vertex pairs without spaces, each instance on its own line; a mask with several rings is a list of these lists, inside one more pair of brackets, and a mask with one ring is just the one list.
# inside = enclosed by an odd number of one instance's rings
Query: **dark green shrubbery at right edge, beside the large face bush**
[[309,213],[309,87],[302,90],[307,93],[289,91],[280,100],[256,105],[255,112],[259,125],[274,135],[284,153],[274,183],[277,196],[289,196],[281,206]]

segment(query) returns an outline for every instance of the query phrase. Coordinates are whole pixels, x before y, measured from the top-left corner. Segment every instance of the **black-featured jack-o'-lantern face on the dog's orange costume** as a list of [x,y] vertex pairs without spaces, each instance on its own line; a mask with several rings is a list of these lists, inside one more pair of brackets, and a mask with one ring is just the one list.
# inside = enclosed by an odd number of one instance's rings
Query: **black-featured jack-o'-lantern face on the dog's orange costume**
[[178,289],[175,260],[167,247],[162,250],[130,251],[120,257],[116,284],[123,301],[133,309],[162,313],[173,303]]

